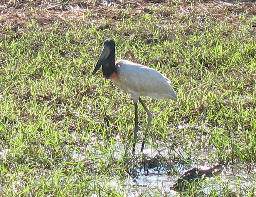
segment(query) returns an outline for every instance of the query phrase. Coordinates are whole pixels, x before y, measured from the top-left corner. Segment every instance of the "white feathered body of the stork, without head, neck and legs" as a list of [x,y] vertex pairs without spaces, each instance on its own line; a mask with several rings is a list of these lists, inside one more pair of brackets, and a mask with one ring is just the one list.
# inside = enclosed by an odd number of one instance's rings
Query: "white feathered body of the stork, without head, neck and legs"
[[124,59],[116,61],[115,66],[117,76],[111,80],[132,95],[134,102],[138,102],[139,96],[177,101],[176,93],[170,85],[171,81],[154,68]]

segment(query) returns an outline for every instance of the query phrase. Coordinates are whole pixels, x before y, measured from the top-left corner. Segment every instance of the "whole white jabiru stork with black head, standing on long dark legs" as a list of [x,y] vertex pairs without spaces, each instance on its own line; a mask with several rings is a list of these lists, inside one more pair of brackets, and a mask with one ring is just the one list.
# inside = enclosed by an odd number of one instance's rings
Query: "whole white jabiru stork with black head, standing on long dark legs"
[[[140,96],[148,96],[153,99],[172,99],[177,101],[177,96],[174,89],[171,87],[171,81],[159,73],[154,68],[149,68],[141,64],[136,64],[128,60],[120,59],[115,62],[115,42],[113,39],[106,39],[104,47],[100,55],[100,59],[94,68],[92,74],[102,65],[102,73],[107,79],[111,79],[119,88],[132,95],[135,107],[135,128],[133,138],[133,153],[135,152],[135,145],[137,141],[138,125],[138,101],[142,104],[148,114],[148,124],[146,131],[148,131],[152,114],[146,108],[146,105],[141,100]],[[144,149],[146,135],[142,142],[141,152]]]

